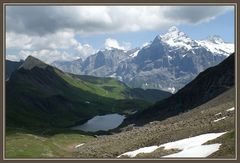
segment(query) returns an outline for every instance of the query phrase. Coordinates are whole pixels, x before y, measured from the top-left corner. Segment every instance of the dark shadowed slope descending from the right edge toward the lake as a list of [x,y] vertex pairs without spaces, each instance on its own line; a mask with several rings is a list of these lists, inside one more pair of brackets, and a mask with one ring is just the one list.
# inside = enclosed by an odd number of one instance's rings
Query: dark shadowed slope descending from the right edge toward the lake
[[234,54],[201,72],[193,81],[169,98],[129,117],[126,122],[142,124],[187,112],[234,88]]

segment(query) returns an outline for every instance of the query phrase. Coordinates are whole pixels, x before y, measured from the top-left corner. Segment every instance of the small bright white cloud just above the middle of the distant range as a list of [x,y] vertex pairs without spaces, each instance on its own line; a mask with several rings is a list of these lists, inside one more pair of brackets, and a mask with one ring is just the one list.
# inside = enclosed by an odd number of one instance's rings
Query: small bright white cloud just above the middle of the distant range
[[116,48],[116,49],[121,49],[121,50],[129,50],[131,47],[131,43],[129,42],[123,42],[121,45],[120,43],[112,38],[107,38],[105,40],[105,48],[106,49],[111,49],[111,48]]

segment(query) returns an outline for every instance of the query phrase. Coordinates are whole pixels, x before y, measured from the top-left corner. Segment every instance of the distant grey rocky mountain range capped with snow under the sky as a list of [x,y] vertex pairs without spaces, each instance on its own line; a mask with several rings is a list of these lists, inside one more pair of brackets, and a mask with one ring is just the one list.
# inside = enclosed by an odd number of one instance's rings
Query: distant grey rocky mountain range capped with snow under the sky
[[142,48],[105,49],[85,60],[55,61],[52,65],[74,74],[114,77],[133,88],[174,93],[233,52],[234,45],[219,36],[198,41],[171,27]]

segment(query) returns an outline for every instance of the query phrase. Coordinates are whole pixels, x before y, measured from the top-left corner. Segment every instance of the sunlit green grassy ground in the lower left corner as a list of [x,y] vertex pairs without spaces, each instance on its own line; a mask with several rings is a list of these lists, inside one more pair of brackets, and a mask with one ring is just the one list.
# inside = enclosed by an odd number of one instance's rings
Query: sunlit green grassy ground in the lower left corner
[[5,154],[7,158],[74,157],[76,145],[93,139],[77,131],[44,136],[27,130],[7,129]]

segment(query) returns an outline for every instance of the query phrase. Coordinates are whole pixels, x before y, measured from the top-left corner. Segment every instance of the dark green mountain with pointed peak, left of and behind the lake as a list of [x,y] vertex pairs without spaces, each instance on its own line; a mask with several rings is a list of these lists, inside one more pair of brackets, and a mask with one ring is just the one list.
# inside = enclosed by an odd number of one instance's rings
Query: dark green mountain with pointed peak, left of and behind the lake
[[113,78],[65,73],[32,56],[22,64],[7,61],[6,70],[12,71],[6,82],[7,127],[63,128],[95,115],[141,110],[171,96],[131,89]]

